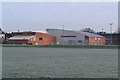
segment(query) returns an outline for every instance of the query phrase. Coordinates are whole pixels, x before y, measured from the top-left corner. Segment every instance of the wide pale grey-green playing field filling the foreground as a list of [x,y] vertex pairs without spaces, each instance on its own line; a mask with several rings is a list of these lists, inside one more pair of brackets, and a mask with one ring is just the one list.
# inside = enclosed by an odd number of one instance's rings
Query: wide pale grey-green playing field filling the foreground
[[117,49],[3,47],[4,78],[117,78]]

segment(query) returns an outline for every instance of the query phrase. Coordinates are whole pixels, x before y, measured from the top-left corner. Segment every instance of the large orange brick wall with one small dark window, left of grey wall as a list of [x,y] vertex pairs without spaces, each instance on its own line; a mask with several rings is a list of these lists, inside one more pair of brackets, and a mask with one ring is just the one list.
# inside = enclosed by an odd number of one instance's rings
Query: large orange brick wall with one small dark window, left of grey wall
[[[39,40],[42,38],[42,40]],[[35,41],[34,41],[35,40]],[[49,44],[56,44],[56,37],[46,34],[46,33],[39,33],[36,32],[35,36],[31,38],[28,43],[32,43],[32,45],[49,45]]]

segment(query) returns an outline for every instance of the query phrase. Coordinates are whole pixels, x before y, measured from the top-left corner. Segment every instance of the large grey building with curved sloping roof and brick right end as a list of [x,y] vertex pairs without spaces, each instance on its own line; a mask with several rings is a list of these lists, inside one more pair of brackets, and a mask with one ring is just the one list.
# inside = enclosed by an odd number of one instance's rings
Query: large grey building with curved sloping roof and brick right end
[[62,45],[104,45],[105,37],[80,31],[46,29],[46,31],[56,37],[57,44]]

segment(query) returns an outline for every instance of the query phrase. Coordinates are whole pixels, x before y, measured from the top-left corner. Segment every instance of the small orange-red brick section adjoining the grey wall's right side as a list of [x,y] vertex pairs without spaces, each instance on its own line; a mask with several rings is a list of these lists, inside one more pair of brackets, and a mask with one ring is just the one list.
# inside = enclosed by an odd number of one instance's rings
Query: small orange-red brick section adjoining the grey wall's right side
[[86,37],[89,45],[104,45],[106,43],[105,37]]

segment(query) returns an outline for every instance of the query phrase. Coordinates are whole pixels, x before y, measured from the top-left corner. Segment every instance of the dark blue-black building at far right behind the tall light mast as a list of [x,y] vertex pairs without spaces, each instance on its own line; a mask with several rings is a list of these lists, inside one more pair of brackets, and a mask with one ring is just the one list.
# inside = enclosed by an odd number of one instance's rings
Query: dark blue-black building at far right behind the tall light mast
[[120,45],[120,33],[97,33],[106,37],[106,45]]

